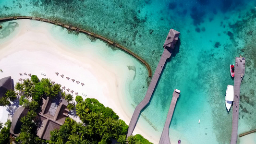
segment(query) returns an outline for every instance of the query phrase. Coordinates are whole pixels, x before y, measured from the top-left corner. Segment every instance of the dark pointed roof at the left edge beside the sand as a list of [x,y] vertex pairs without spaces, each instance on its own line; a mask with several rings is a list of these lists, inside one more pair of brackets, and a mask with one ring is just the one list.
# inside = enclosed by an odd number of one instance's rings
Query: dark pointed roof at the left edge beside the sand
[[4,77],[0,79],[0,97],[4,96],[7,90],[13,90],[12,77]]

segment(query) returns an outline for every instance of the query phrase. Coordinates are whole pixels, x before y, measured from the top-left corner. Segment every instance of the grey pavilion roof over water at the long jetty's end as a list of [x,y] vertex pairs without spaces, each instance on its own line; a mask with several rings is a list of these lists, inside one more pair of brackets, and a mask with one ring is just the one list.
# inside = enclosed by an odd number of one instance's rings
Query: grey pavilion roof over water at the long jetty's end
[[174,29],[170,29],[168,36],[165,39],[164,42],[164,48],[174,48],[178,38],[179,38],[180,32],[174,30]]

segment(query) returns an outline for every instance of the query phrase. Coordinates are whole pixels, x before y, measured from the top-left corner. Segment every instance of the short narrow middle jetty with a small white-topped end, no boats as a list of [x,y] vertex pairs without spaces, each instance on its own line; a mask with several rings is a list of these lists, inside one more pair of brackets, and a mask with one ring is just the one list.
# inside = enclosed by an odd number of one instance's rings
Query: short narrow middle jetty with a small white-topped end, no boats
[[164,129],[163,129],[159,144],[171,144],[170,137],[169,137],[169,127],[171,123],[172,114],[179,96],[180,96],[180,90],[175,89],[172,93],[171,105],[170,105],[169,112],[164,124]]

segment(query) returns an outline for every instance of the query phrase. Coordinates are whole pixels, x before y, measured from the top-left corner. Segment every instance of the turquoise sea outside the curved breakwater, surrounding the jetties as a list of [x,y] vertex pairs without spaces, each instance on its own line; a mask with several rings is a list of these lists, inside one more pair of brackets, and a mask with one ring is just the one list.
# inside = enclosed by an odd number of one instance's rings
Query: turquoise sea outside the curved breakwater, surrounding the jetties
[[[242,55],[238,134],[256,129],[255,0],[0,0],[0,17],[11,15],[58,20],[108,37],[146,60],[153,72],[170,28],[179,31],[180,41],[138,125],[149,126],[159,138],[177,88],[181,95],[170,138],[189,144],[229,144],[232,110],[225,108],[225,91],[233,84],[229,64]],[[140,103],[149,82],[144,76],[131,84],[128,108]]]

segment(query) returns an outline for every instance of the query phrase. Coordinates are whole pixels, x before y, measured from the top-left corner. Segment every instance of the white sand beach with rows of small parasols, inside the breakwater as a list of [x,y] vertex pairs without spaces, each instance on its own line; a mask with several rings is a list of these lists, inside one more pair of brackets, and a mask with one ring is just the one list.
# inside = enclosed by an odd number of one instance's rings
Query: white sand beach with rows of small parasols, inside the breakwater
[[[49,30],[58,27],[53,24],[31,20],[15,22],[19,23],[15,35],[11,34],[12,37],[7,37],[7,40],[0,39],[0,69],[3,71],[0,78],[12,76],[14,84],[19,78],[29,78],[29,73],[37,75],[39,79],[50,78],[51,81],[61,84],[61,87],[65,86],[66,93],[70,93],[67,89],[73,90],[74,98],[74,93],[77,92],[79,96],[85,93],[87,96],[83,96],[84,99],[98,99],[129,124],[132,113],[127,112],[129,110],[126,108],[125,96],[129,94],[125,94],[125,88],[133,81],[135,72],[128,70],[127,66],[136,66],[138,61],[120,50],[112,52],[113,50],[102,41],[91,42],[82,34],[79,34],[78,39],[85,42],[77,44],[77,48],[71,48],[72,44],[67,45],[50,33]],[[69,40],[72,41],[63,41]],[[27,75],[24,75],[24,72]],[[59,75],[55,72],[59,72]],[[70,79],[67,80],[66,77]],[[75,81],[72,82],[71,79]],[[80,83],[77,84],[76,81]],[[82,86],[81,83],[85,85]],[[135,133],[158,143],[144,134],[143,130]]]

